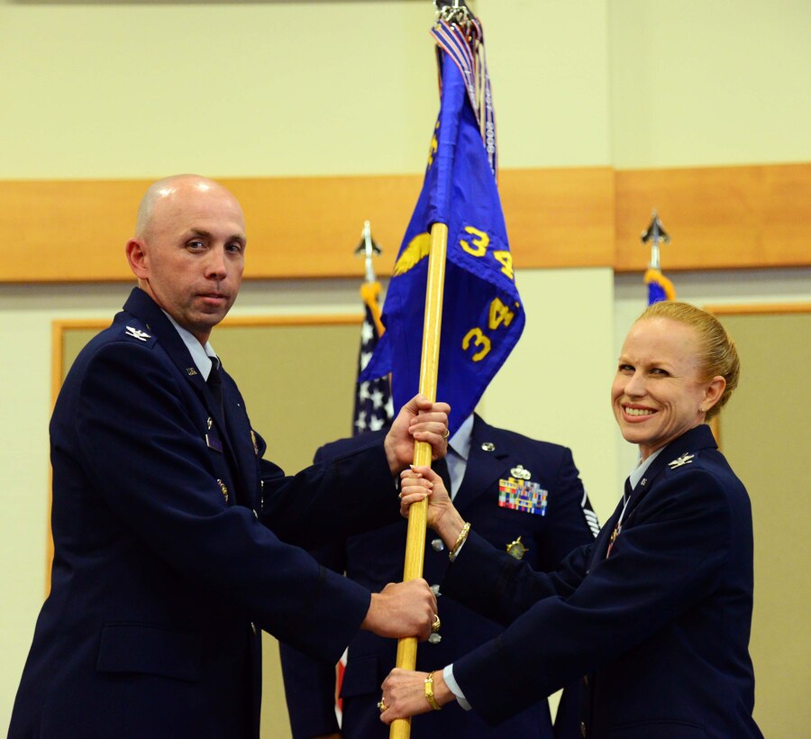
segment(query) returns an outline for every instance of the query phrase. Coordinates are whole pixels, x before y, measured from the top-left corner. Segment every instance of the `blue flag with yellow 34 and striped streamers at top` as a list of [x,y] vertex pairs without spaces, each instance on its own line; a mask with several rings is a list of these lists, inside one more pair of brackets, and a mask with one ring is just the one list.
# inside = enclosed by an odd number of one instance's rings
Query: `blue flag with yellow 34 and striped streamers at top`
[[437,399],[451,434],[473,411],[524,330],[496,185],[496,122],[481,25],[467,40],[443,21],[437,43],[441,107],[423,190],[405,231],[383,310],[383,334],[362,379],[392,373],[395,412],[419,389],[431,226],[448,226]]

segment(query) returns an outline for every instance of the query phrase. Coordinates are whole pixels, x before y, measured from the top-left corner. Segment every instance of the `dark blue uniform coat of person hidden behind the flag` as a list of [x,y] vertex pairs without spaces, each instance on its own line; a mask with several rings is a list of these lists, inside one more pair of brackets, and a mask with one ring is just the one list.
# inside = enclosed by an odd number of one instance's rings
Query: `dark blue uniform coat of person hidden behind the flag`
[[[360,444],[367,443],[367,437],[375,435],[362,434],[328,444],[319,450],[316,459],[351,453]],[[516,478],[515,474],[521,477]],[[520,483],[524,477],[529,483],[525,487],[538,491],[538,510],[527,513],[499,506],[499,484],[511,478]],[[544,497],[543,504],[540,503],[541,497]],[[509,543],[520,537],[526,550],[524,561],[533,568],[551,570],[572,549],[594,541],[586,515],[595,522],[596,518],[590,506],[584,510],[584,503],[586,494],[568,449],[494,428],[478,416],[475,418],[469,459],[455,505],[461,515],[472,522],[473,529],[489,543],[504,552]],[[381,588],[387,582],[403,579],[406,525],[405,519],[401,519],[378,531],[352,536],[345,542],[322,548],[316,556],[333,570],[345,571],[348,578],[365,588]],[[448,565],[448,551],[429,531],[424,578],[432,585],[441,583]],[[503,630],[444,594],[438,603],[442,641],[419,644],[417,670],[442,668]],[[295,739],[337,731],[334,662],[314,661],[286,644],[281,645],[281,656]],[[380,684],[395,664],[395,640],[360,632],[349,643],[349,659],[342,682],[344,739],[387,739],[389,729],[380,722],[376,704],[380,698]],[[466,712],[453,703],[442,711],[415,716],[411,736],[412,739],[551,737],[549,707],[544,697],[545,694],[537,693],[535,700],[531,701],[535,705],[527,704],[519,716],[497,729],[488,726],[476,713]],[[577,700],[576,695],[574,699]]]

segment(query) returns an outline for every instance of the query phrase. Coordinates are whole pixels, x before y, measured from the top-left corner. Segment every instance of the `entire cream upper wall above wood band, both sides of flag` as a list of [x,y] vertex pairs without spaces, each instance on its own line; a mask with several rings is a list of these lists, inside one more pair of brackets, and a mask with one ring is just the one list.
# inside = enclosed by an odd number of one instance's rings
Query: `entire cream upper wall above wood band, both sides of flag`
[[[478,0],[504,167],[806,161],[806,0]],[[425,2],[0,0],[5,178],[418,172]]]

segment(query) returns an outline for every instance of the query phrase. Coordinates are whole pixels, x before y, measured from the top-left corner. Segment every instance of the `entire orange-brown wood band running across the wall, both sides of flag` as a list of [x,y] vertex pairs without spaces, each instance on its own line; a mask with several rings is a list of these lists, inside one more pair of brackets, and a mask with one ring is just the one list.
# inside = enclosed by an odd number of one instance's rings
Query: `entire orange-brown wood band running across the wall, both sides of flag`
[[[365,220],[390,273],[418,175],[223,179],[248,224],[247,279],[362,278]],[[123,258],[148,180],[0,180],[0,282],[129,281]],[[811,164],[694,169],[505,169],[518,269],[642,271],[657,208],[665,271],[811,266]]]

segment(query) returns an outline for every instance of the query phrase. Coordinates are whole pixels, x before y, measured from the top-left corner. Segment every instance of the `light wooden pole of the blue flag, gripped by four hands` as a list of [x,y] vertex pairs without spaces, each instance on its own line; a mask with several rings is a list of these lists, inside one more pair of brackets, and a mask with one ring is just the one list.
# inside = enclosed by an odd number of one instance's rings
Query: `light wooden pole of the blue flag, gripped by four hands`
[[[442,336],[442,292],[445,284],[445,256],[448,251],[448,226],[431,227],[431,253],[428,256],[428,281],[425,285],[425,319],[423,324],[423,354],[420,362],[420,393],[436,401],[436,383],[439,370],[439,347]],[[414,463],[418,467],[431,465],[431,444],[416,442]],[[408,533],[405,539],[405,566],[403,581],[421,578],[425,558],[425,525],[428,503],[415,503],[408,511]],[[415,636],[397,643],[397,667],[414,670],[416,666]],[[411,719],[396,718],[389,730],[389,739],[408,739]]]

